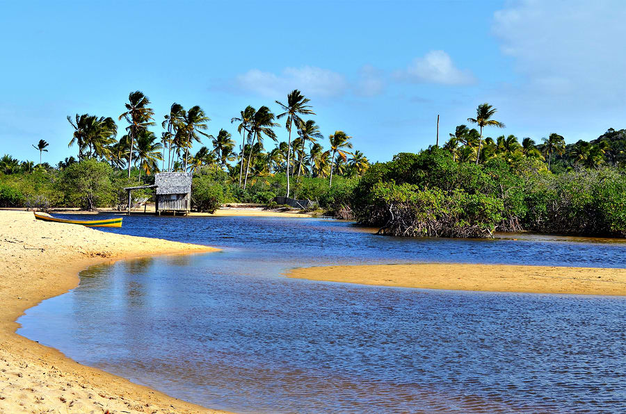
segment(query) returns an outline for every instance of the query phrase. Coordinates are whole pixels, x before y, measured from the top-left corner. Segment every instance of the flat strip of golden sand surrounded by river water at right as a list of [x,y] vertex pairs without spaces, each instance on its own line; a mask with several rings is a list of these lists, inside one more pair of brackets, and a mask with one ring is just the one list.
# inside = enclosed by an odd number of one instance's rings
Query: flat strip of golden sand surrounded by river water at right
[[489,292],[626,295],[626,269],[428,263],[323,266],[288,276],[316,281]]

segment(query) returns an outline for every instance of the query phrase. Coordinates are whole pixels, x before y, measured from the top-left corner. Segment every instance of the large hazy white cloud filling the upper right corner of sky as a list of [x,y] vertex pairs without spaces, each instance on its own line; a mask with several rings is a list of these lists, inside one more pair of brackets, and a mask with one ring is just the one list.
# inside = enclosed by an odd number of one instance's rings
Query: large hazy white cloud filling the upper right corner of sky
[[520,124],[572,131],[568,142],[626,126],[626,3],[508,3],[492,32],[519,76],[495,95]]

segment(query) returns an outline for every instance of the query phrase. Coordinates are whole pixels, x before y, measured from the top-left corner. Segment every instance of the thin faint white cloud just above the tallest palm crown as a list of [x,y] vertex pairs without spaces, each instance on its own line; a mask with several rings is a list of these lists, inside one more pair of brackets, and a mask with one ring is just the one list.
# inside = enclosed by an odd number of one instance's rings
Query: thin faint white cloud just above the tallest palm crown
[[236,77],[240,88],[264,97],[281,97],[299,89],[305,96],[336,97],[346,92],[348,83],[341,74],[319,67],[286,67],[280,74],[250,69]]

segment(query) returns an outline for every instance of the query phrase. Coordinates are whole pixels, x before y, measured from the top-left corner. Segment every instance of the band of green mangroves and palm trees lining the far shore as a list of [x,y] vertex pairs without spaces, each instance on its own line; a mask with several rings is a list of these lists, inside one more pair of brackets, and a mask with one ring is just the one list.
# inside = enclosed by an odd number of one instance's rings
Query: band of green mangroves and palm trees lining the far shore
[[[172,105],[162,124],[166,132],[156,142],[149,132],[150,101],[133,92],[120,115],[129,126],[119,141],[113,119],[77,115],[70,119],[76,130],[70,145],[78,144],[78,160],[65,158],[51,167],[0,158],[0,206],[121,208],[123,188],[153,183],[161,161],[161,170],[193,172],[192,205],[200,211],[228,202],[271,205],[274,197],[289,194],[390,235],[490,237],[527,230],[626,236],[625,130],[609,129],[575,144],[565,144],[557,133],[540,144],[531,138],[520,143],[515,135],[483,138],[488,128],[504,128],[492,119],[495,108],[483,104],[468,118],[479,129],[459,125],[442,148],[369,165],[360,151],[351,151],[351,137],[343,131],[328,137],[324,151],[316,142],[323,138],[319,127],[300,118],[314,115],[307,103],[297,90],[285,104],[277,101],[289,138],[270,151],[264,138],[275,140],[277,117],[266,106],[242,110],[232,120],[243,138],[236,153],[224,129],[216,138],[204,132],[209,119],[200,107]],[[191,155],[191,142],[202,137],[212,140],[213,149]],[[33,145],[40,156],[47,146]]]

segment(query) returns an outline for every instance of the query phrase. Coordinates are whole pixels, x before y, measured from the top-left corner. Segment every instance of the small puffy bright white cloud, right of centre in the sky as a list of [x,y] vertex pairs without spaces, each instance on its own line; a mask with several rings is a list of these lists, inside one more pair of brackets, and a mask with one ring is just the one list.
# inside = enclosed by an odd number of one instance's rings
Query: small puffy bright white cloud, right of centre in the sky
[[455,67],[449,54],[442,50],[429,51],[424,57],[413,59],[406,69],[395,75],[396,78],[417,83],[467,85],[475,82],[469,70]]

